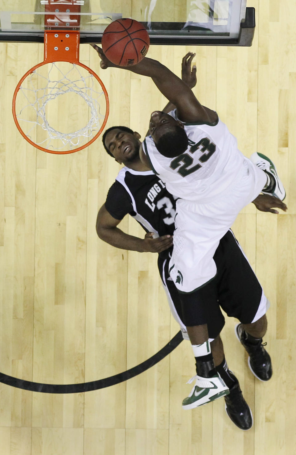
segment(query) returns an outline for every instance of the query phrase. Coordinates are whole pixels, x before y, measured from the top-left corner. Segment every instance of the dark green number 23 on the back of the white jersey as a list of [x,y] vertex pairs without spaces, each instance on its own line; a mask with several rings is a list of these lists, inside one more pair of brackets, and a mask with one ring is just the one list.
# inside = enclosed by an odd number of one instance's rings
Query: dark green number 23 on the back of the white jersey
[[[194,152],[196,152],[196,150],[201,150],[201,152],[208,151],[208,153],[204,153],[204,155],[201,155],[201,157],[199,158],[200,162],[205,163],[215,152],[216,145],[214,144],[214,142],[210,142],[210,140],[207,137],[204,137],[199,142],[197,142],[197,144],[195,144],[191,147],[190,153],[194,153]],[[181,162],[184,163],[182,166],[181,166]],[[177,167],[181,166],[181,167],[179,167],[177,172],[182,177],[186,177],[186,175],[192,174],[192,172],[195,172],[195,171],[197,171],[197,169],[201,168],[201,164],[198,163],[195,166],[190,167],[188,169],[188,167],[192,163],[193,163],[193,158],[188,153],[182,153],[181,155],[176,157],[171,162],[170,167],[175,170],[175,169],[177,169]]]

